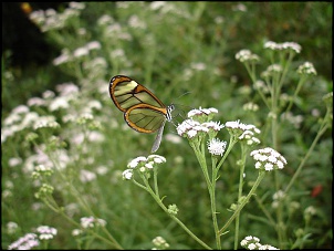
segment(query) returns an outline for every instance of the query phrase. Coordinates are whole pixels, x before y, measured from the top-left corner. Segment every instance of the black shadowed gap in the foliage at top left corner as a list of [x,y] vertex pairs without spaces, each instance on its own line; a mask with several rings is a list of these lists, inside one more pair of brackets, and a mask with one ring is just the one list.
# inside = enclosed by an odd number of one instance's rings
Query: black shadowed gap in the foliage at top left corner
[[[32,10],[61,9],[64,2],[31,2]],[[11,51],[10,65],[24,67],[42,65],[52,60],[59,50],[24,13],[21,2],[2,2],[2,54]]]

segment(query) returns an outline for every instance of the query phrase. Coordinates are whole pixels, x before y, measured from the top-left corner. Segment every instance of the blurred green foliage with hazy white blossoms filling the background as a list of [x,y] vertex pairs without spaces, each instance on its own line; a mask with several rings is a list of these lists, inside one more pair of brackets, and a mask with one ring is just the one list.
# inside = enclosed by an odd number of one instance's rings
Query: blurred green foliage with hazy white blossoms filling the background
[[[132,130],[114,106],[108,82],[118,74],[145,85],[166,105],[175,103],[182,118],[201,106],[217,108],[216,119],[222,124],[253,124],[261,129],[261,146],[285,157],[286,167],[265,176],[244,205],[238,248],[247,236],[281,249],[332,247],[332,122],[324,118],[333,118],[333,112],[322,100],[333,92],[332,4],[87,2],[49,13],[55,22],[34,18],[62,54],[42,69],[25,70],[9,66],[10,52],[2,56],[3,249],[39,226],[58,229],[48,249],[164,248],[159,239],[152,242],[158,236],[170,249],[201,249],[159,202],[176,205],[178,219],[216,249],[206,179],[191,147],[171,124],[158,150],[167,159],[158,169],[160,197],[123,180],[131,159],[149,155],[155,135]],[[291,61],[272,61],[271,51],[263,49],[267,41],[295,42],[302,50]],[[242,49],[259,56],[254,67],[244,69],[236,60]],[[296,73],[305,61],[314,64],[315,76]],[[254,82],[265,80],[261,72],[269,65],[282,62],[289,70],[280,95],[263,98]],[[247,103],[258,109],[243,108]],[[278,115],[276,124],[270,112]],[[229,140],[225,129],[219,137]],[[238,200],[237,163],[242,154],[236,146],[217,174],[220,228]],[[253,161],[244,165],[246,196],[258,171]],[[284,210],[279,211],[272,197],[285,188],[289,194],[280,205]],[[83,228],[84,217],[95,217],[92,228]],[[9,222],[18,227],[10,230]],[[234,247],[234,227],[221,236],[221,249]],[[84,231],[73,236],[75,229]]]

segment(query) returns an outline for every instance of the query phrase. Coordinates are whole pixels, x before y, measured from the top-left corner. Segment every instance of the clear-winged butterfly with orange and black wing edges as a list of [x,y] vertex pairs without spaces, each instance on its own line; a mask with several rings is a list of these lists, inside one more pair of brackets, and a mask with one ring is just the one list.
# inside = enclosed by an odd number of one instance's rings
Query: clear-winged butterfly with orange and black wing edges
[[173,119],[175,106],[164,105],[148,88],[124,75],[111,80],[109,94],[131,128],[145,134],[157,132],[152,147],[152,153],[155,153],[160,146],[166,121]]

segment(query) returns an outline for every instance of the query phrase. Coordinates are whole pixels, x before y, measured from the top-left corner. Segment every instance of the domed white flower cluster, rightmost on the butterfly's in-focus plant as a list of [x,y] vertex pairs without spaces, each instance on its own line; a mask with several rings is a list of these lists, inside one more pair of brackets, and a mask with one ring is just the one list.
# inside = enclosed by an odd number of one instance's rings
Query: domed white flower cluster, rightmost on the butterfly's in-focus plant
[[257,169],[271,171],[273,169],[283,169],[288,164],[286,159],[276,150],[265,147],[263,149],[253,150],[250,153],[253,157]]

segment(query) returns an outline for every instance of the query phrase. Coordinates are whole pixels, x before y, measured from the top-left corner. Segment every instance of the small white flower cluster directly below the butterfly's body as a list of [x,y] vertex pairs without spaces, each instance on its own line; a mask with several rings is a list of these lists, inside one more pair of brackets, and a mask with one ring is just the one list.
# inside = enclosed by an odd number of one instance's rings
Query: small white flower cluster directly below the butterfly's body
[[152,170],[156,164],[166,163],[166,158],[159,155],[149,155],[147,158],[139,156],[134,158],[127,164],[126,170],[123,171],[123,179],[132,179],[134,175],[134,169],[138,169],[142,172]]

